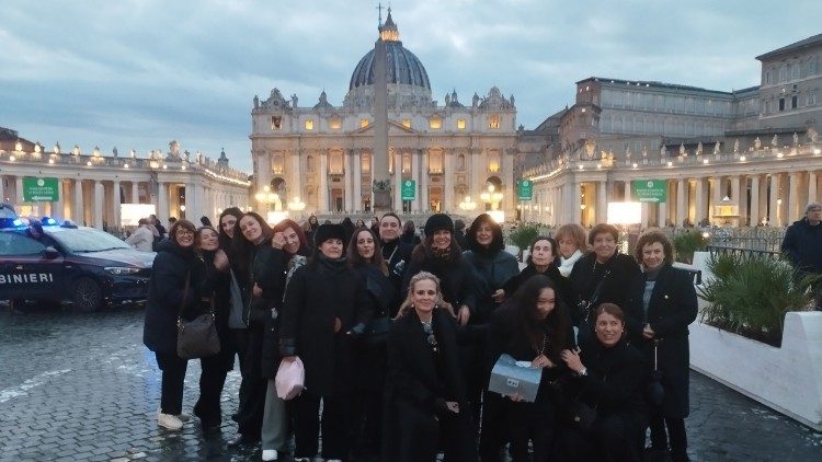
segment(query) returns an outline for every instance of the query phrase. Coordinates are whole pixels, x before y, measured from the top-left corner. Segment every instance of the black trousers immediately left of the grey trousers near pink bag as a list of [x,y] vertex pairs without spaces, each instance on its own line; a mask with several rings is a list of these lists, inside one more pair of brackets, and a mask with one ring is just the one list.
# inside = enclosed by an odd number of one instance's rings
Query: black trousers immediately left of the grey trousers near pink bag
[[236,420],[239,434],[251,439],[260,439],[265,393],[269,388],[269,379],[263,378],[261,371],[264,328],[262,325],[252,324],[246,332],[246,354],[240,360],[240,406]]

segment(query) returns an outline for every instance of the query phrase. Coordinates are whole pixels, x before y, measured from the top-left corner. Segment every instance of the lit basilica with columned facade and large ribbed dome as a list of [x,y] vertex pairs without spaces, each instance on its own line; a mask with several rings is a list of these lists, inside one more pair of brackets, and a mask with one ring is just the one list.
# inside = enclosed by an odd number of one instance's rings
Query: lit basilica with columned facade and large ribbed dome
[[[432,100],[420,59],[403,47],[390,10],[380,27],[387,46],[388,170],[393,209],[459,212],[493,186],[499,203],[481,210],[514,211],[514,154],[517,132],[514,96],[496,89],[463,104],[456,91],[444,103]],[[340,106],[323,91],[316,104],[300,106],[273,89],[254,96],[251,152],[258,209],[306,212],[367,212],[374,204],[375,51],[354,67]],[[407,199],[403,199],[402,190]],[[502,193],[501,197],[499,193]],[[470,198],[470,200],[467,200]],[[512,216],[512,215],[509,215]]]

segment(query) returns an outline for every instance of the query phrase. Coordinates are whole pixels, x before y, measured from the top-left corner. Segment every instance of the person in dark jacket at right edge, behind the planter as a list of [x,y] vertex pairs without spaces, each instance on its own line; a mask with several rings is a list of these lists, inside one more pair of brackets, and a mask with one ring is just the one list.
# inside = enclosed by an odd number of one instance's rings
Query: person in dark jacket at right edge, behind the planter
[[[812,201],[804,218],[788,227],[781,251],[797,267],[797,275],[822,274],[822,204]],[[822,310],[822,290],[817,292],[817,310]]]

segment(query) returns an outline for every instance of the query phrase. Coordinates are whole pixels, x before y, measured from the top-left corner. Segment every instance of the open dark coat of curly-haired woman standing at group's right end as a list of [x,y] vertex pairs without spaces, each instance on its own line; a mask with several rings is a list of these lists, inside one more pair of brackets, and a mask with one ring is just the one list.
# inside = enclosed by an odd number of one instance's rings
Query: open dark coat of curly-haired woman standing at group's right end
[[649,366],[653,368],[653,340],[642,337],[646,323],[651,324],[654,338],[660,340],[657,358],[665,389],[663,414],[672,418],[687,417],[690,370],[688,325],[697,314],[694,281],[686,270],[663,266],[657,276],[646,319],[642,309],[646,279],[647,275],[641,274],[631,281],[626,313],[629,338],[644,353]]

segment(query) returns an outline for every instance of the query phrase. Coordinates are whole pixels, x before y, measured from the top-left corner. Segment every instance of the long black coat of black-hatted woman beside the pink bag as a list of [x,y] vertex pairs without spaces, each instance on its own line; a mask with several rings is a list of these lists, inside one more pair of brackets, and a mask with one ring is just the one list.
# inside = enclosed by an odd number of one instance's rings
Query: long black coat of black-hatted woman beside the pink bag
[[[285,292],[279,324],[279,353],[298,356],[306,369],[306,390],[316,396],[352,391],[352,338],[374,311],[365,280],[344,258],[318,256],[294,272]],[[334,332],[335,320],[340,331]]]

